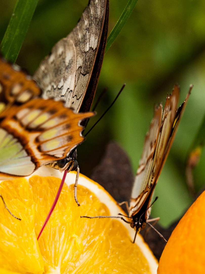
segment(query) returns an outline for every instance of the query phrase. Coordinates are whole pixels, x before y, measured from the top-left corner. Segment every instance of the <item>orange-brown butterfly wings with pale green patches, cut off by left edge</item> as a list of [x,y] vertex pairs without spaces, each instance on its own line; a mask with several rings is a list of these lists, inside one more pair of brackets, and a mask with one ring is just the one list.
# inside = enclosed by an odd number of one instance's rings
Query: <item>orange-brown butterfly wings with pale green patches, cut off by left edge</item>
[[0,179],[28,176],[85,139],[80,122],[94,113],[74,113],[41,93],[29,75],[0,58]]

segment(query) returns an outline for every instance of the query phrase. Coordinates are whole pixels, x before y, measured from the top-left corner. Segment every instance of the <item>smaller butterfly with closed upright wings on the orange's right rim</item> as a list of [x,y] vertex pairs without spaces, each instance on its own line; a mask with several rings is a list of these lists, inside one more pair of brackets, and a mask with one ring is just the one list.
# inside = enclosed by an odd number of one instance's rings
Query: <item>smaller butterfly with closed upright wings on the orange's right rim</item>
[[121,218],[125,222],[129,222],[130,226],[136,230],[134,237],[135,241],[137,232],[144,229],[146,223],[149,223],[150,221],[148,218],[150,215],[151,199],[154,188],[174,141],[191,89],[192,86],[189,89],[186,99],[178,109],[177,106],[180,96],[178,85],[175,85],[172,94],[167,96],[163,112],[162,104],[160,104],[159,107],[155,107],[154,118],[145,137],[142,156],[131,193],[130,206],[128,206],[127,202],[122,202],[120,204],[122,205],[125,203],[127,205],[129,213],[128,218],[131,219],[131,221],[126,221],[121,216],[82,217]]

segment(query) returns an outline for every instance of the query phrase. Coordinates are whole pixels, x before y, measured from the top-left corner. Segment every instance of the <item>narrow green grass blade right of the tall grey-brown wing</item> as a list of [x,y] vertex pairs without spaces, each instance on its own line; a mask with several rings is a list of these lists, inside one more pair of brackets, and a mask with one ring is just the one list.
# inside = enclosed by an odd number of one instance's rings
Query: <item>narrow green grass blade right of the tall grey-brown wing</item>
[[137,3],[137,0],[130,0],[127,3],[123,13],[121,14],[120,18],[117,21],[115,27],[113,28],[112,32],[110,33],[110,35],[107,38],[107,45],[106,45],[105,53],[109,50],[110,46],[115,41],[118,34],[121,32],[122,28],[124,27],[125,23],[127,22],[127,19],[130,17],[130,14],[132,13],[136,3]]

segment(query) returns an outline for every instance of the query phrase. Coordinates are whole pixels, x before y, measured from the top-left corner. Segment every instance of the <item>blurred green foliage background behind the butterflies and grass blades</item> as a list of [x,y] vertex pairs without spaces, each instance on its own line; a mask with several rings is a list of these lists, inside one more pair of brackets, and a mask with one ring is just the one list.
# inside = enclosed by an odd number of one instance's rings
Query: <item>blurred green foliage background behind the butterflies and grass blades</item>
[[[75,27],[88,0],[39,0],[16,63],[35,72],[53,45]],[[128,0],[110,0],[109,33]],[[0,40],[15,6],[1,0]],[[90,176],[106,144],[118,142],[128,153],[136,173],[145,134],[153,117],[153,105],[165,103],[177,82],[180,103],[194,84],[175,141],[156,186],[159,199],[152,216],[167,227],[192,202],[185,179],[185,160],[205,113],[205,2],[203,0],[139,0],[125,27],[104,57],[96,98],[108,92],[98,115],[109,106],[121,86],[123,93],[113,108],[78,147],[81,173]],[[204,185],[205,151],[194,170],[195,188]]]

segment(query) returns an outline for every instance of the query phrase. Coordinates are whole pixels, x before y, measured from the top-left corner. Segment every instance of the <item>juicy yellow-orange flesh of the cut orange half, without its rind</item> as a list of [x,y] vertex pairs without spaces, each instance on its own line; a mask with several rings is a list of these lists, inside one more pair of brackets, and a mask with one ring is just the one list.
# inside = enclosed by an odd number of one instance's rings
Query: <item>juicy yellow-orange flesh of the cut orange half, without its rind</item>
[[[0,193],[0,266],[15,273],[151,273],[140,248],[115,219],[80,216],[109,215],[108,208],[86,187],[65,184],[42,236],[37,235],[55,199],[61,180],[33,176],[4,181]],[[1,269],[0,269],[1,270]],[[10,272],[11,271],[11,272]]]

